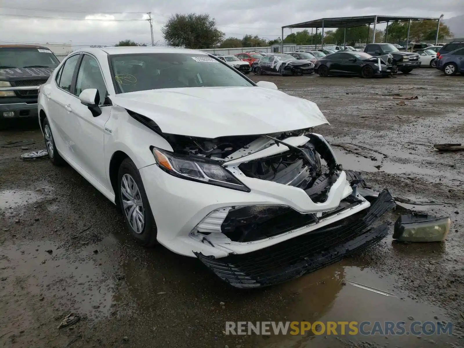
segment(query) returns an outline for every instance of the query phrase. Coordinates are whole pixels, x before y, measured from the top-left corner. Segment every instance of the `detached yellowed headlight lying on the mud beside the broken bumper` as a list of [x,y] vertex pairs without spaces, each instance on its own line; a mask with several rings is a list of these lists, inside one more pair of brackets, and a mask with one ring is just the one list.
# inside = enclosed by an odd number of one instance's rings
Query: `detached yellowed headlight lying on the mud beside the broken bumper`
[[441,242],[450,232],[451,219],[423,213],[401,215],[395,222],[393,239],[402,242]]

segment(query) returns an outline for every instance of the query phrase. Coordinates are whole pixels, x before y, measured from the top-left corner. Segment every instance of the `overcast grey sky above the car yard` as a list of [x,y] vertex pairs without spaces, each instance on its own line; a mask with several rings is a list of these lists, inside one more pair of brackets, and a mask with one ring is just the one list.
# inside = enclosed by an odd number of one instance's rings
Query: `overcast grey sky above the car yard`
[[[129,5],[130,4],[130,5]],[[374,5],[380,7],[373,7]],[[383,5],[382,5],[383,4]],[[14,8],[6,8],[11,6]],[[15,9],[15,8],[31,8]],[[44,10],[36,10],[38,8]],[[52,11],[50,11],[52,10]],[[155,42],[163,42],[161,26],[174,13],[209,13],[226,37],[258,34],[280,36],[280,27],[323,17],[370,14],[451,18],[464,13],[463,0],[16,0],[0,5],[0,40],[24,43],[112,44],[123,39],[151,42],[147,21],[90,21],[85,19],[145,19],[152,12]],[[131,13],[128,13],[131,12]],[[140,13],[135,13],[140,12]],[[7,15],[6,15],[7,14]],[[9,16],[9,15],[16,15]],[[25,17],[26,16],[26,17]],[[41,19],[58,17],[64,19]],[[70,20],[70,19],[81,20]],[[295,30],[295,29],[294,29]],[[284,36],[290,29],[284,31]]]

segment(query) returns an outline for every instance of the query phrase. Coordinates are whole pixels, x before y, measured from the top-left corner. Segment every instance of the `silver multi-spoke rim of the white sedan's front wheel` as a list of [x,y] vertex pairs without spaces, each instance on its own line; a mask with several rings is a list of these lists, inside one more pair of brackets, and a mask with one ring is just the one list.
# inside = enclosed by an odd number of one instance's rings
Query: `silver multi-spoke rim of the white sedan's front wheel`
[[142,196],[134,178],[130,174],[124,174],[121,180],[121,200],[122,208],[129,225],[135,233],[143,232],[145,225],[145,214],[143,209]]

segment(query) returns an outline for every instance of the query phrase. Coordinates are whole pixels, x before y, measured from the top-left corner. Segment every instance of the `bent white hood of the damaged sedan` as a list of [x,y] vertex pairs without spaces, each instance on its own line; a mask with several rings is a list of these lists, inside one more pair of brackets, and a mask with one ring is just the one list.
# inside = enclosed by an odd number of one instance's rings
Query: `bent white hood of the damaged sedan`
[[316,103],[263,87],[190,87],[110,96],[164,133],[217,138],[306,129],[329,123]]

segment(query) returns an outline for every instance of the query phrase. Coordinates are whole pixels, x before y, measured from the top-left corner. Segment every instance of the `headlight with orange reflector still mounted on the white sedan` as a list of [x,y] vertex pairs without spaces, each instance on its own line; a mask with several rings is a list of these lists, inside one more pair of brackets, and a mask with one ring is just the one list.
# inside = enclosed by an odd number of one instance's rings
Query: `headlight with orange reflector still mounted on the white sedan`
[[250,189],[235,178],[227,169],[213,164],[206,159],[173,155],[159,148],[152,149],[158,167],[168,174],[182,179],[200,181],[205,184],[217,185],[234,190],[250,192]]

